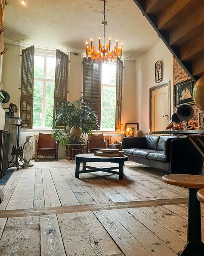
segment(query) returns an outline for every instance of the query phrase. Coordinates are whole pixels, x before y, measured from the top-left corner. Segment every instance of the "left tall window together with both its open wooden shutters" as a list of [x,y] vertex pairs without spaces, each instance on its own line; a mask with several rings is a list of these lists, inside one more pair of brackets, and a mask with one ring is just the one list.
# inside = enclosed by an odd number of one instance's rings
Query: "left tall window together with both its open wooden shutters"
[[52,116],[67,101],[68,58],[59,49],[35,50],[34,45],[22,49],[20,117],[24,128],[51,127]]

